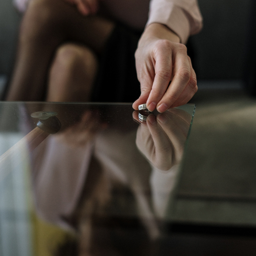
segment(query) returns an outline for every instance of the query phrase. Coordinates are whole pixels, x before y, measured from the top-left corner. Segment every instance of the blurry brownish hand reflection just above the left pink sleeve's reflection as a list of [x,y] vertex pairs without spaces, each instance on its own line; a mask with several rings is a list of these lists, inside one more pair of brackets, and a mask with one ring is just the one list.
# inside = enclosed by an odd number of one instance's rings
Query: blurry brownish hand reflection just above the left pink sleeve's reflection
[[56,134],[56,136],[70,145],[83,146],[106,126],[107,124],[101,122],[100,116],[96,112],[86,111],[82,114],[79,122],[66,128],[58,135]]

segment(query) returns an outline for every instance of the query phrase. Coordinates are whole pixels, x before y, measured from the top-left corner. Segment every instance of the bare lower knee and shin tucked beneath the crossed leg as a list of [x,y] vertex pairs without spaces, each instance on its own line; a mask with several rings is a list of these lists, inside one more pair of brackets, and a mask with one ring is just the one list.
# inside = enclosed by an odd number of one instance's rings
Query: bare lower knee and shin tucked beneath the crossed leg
[[97,72],[97,58],[84,46],[61,46],[49,73],[47,101],[86,102]]

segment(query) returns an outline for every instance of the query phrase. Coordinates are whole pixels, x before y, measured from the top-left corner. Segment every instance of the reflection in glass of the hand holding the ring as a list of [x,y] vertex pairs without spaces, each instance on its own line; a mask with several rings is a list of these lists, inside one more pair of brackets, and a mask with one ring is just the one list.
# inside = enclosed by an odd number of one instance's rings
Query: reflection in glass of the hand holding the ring
[[[133,113],[137,121],[138,113]],[[150,114],[137,130],[136,145],[153,166],[169,170],[180,163],[190,122],[189,113],[180,109]]]

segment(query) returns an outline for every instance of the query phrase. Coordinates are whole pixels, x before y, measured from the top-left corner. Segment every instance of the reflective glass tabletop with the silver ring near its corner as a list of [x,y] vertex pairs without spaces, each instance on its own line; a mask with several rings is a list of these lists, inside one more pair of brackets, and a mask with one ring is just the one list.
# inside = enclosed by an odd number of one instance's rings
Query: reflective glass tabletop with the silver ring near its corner
[[162,255],[194,111],[0,102],[0,255]]

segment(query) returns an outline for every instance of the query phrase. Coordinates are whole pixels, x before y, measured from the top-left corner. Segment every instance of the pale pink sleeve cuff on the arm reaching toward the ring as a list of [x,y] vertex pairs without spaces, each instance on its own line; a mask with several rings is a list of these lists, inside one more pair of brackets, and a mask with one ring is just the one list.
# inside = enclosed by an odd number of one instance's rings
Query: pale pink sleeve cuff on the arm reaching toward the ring
[[202,29],[203,18],[197,0],[151,0],[146,26],[151,23],[168,26],[185,44]]

